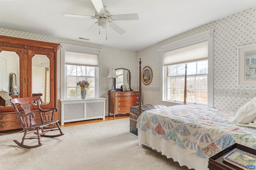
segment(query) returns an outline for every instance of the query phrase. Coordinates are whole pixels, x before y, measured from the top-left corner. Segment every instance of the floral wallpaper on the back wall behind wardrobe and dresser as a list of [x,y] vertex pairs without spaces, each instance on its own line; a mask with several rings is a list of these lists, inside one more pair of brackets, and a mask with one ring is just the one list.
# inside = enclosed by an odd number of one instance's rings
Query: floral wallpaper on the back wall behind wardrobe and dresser
[[[107,47],[103,45],[97,45],[92,43],[86,43],[83,41],[75,41],[70,39],[63,39],[57,37],[50,37],[45,35],[38,35],[34,33],[27,33],[22,31],[15,31],[11,29],[0,28],[0,35],[19,37],[24,39],[32,39],[38,41],[46,41],[51,43],[66,43],[72,45],[80,45],[85,47],[92,47],[101,49],[102,55],[102,95],[99,97],[106,98],[106,115],[108,115],[108,90],[111,90],[112,79],[107,78],[110,68],[126,68],[131,72],[131,85],[132,89],[136,90],[136,84],[138,82],[135,77],[138,74],[138,63],[136,61],[136,51],[130,51],[126,49],[118,49],[114,47]],[[61,47],[60,47],[61,49]],[[58,63],[57,63],[57,83],[60,84],[60,49],[58,49]],[[38,63],[35,61],[35,63]],[[41,63],[40,63],[41,64]],[[58,90],[58,108],[61,110],[60,99],[60,87]],[[138,90],[138,89],[137,89]],[[60,120],[60,113],[58,114],[58,119]]]

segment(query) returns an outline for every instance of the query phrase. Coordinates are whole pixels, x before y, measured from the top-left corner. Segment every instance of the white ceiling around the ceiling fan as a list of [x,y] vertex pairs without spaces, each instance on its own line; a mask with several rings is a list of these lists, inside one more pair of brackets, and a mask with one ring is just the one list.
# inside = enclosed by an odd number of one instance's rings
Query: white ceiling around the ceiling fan
[[[256,0],[102,0],[112,15],[137,13],[139,20],[114,21],[126,30],[86,31],[96,19],[91,0],[0,0],[0,27],[138,51],[164,39],[256,6]],[[88,38],[80,40],[78,37]]]

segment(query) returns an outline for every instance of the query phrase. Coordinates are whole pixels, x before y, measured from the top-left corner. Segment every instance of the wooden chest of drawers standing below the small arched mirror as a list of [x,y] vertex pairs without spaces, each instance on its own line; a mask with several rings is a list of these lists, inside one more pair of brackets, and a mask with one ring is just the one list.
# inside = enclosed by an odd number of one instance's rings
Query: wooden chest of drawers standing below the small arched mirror
[[130,107],[138,106],[139,92],[108,92],[108,115],[130,113]]

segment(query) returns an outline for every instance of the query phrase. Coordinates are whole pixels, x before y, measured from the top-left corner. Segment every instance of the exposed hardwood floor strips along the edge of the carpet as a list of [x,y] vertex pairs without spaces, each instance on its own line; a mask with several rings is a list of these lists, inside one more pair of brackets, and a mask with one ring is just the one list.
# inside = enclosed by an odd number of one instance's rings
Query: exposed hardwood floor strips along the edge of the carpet
[[[115,119],[123,119],[130,117],[129,114],[126,115],[116,115]],[[96,123],[96,122],[102,122],[102,121],[111,121],[114,120],[114,116],[106,116],[105,120],[102,119],[93,119],[93,120],[84,120],[84,121],[75,121],[70,123],[64,123],[64,125],[60,125],[60,127],[68,127],[68,126],[74,126],[74,125],[82,125],[82,124],[88,124],[88,123]],[[6,134],[12,134],[12,133],[18,133],[22,131],[23,129],[13,129],[9,131],[0,131],[0,135],[6,135]]]

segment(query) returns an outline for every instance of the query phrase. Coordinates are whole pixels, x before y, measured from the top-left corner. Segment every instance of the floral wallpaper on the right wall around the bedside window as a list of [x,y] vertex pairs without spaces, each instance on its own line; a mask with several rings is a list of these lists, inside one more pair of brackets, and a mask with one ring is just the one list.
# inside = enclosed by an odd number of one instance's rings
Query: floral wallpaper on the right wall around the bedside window
[[214,29],[214,107],[237,111],[256,97],[256,85],[237,86],[237,47],[256,43],[256,8],[254,7],[137,51],[138,58],[142,59],[143,67],[150,66],[153,72],[152,83],[148,86],[142,84],[142,103],[158,103],[160,99],[160,52],[158,47],[209,29]]

